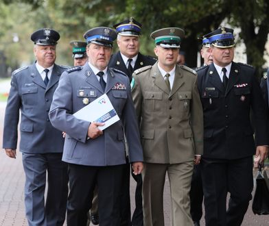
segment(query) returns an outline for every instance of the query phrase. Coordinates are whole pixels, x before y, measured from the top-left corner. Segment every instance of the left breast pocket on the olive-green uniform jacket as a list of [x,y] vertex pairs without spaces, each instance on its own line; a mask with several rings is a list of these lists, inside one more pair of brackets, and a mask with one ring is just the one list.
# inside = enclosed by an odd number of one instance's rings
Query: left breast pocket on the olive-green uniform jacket
[[156,91],[143,92],[144,110],[146,112],[160,112],[162,109],[163,94]]

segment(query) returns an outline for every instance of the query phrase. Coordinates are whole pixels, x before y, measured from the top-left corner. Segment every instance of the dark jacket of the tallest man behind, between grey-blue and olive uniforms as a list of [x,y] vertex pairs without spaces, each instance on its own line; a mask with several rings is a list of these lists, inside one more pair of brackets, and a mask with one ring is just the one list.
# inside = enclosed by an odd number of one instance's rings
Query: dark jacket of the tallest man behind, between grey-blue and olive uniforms
[[[134,64],[134,71],[143,66],[153,65],[155,62],[156,60],[154,60],[154,58],[138,53],[137,61]],[[132,80],[132,75],[129,75],[126,64],[124,63],[124,60],[122,60],[121,53],[119,51],[111,56],[108,66],[124,72],[128,75],[130,81]]]

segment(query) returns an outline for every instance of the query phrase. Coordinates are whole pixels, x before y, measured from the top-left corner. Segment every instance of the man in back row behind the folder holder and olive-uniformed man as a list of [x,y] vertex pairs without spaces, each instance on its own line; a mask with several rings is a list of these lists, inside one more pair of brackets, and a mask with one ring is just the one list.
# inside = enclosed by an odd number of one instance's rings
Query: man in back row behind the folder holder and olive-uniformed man
[[[119,51],[110,59],[109,66],[118,69],[128,75],[132,80],[134,70],[143,66],[153,65],[156,60],[152,57],[139,53],[139,36],[141,34],[141,23],[130,18],[113,25],[117,32],[117,45]],[[132,177],[137,181],[135,190],[135,209],[132,214],[132,225],[143,225],[143,207],[142,207],[142,177],[134,175]],[[126,164],[123,185],[121,191],[121,226],[131,225],[130,221],[130,165]]]

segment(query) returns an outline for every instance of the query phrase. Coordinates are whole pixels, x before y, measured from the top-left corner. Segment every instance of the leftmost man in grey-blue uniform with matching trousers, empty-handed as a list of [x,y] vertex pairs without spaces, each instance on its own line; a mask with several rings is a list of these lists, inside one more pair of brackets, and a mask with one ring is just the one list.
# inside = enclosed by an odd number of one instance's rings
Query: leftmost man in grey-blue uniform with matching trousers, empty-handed
[[25,171],[25,212],[28,225],[33,226],[56,226],[65,222],[68,178],[67,164],[62,162],[64,139],[62,132],[49,121],[54,91],[60,75],[67,69],[54,63],[59,38],[54,29],[38,29],[32,34],[36,62],[12,73],[5,109],[3,148],[10,158],[16,158],[21,111],[20,151]]

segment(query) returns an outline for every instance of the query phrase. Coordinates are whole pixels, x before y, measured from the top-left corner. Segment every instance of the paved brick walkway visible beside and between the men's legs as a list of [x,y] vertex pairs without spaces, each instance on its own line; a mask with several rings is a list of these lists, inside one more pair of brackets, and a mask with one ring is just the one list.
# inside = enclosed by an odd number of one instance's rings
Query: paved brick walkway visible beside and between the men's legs
[[[3,114],[5,103],[0,102],[0,145],[3,137]],[[257,172],[254,172],[254,175]],[[21,153],[17,153],[16,160],[8,158],[4,151],[0,151],[0,226],[26,226],[25,210],[23,203],[24,173],[21,163]],[[134,180],[131,178],[131,203],[134,209]],[[164,190],[165,225],[170,225],[170,199],[169,185],[166,179]],[[204,225],[204,217],[201,225]],[[251,203],[244,218],[243,226],[268,226],[269,216],[254,215]],[[184,225],[178,225],[184,226]]]

